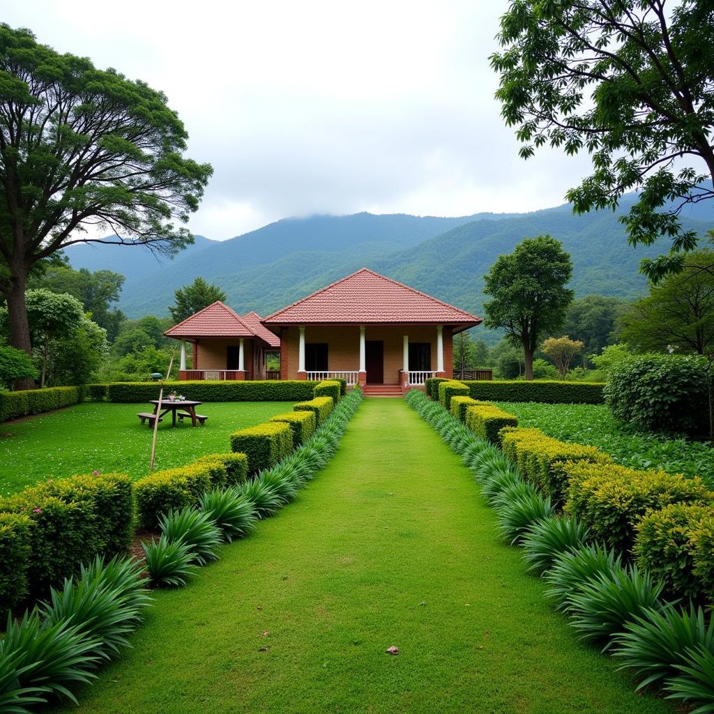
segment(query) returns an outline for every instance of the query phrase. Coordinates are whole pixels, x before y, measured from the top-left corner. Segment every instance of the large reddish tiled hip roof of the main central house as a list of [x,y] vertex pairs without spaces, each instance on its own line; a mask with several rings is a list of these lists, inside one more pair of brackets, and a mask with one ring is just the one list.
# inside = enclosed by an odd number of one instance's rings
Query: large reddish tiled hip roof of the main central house
[[482,322],[466,311],[362,268],[263,320],[265,325],[309,323],[434,323],[459,329]]

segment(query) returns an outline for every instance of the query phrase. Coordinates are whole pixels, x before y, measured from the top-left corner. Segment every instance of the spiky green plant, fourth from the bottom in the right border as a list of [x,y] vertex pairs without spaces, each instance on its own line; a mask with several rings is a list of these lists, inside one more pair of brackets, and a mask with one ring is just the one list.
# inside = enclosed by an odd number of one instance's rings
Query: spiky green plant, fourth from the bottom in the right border
[[580,583],[594,578],[598,573],[618,570],[621,563],[621,555],[615,553],[615,550],[603,548],[598,543],[580,545],[579,548],[558,553],[553,558],[553,565],[543,575],[550,585],[550,588],[545,590],[545,595],[555,600],[558,610],[563,610]]

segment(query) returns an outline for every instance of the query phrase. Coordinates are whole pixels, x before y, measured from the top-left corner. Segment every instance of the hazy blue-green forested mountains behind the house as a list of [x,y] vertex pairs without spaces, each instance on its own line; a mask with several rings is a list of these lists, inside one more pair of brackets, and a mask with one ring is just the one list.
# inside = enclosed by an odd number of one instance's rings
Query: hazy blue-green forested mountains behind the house
[[[714,226],[714,206],[697,206],[685,221],[704,233]],[[174,290],[196,276],[220,285],[241,313],[265,315],[363,266],[479,314],[483,274],[498,255],[540,233],[563,241],[573,256],[578,296],[636,296],[645,288],[640,259],[666,249],[665,243],[631,248],[610,211],[574,216],[569,206],[558,206],[462,218],[288,218],[229,241],[201,238],[164,265],[142,248],[77,246],[67,253],[75,268],[126,275],[120,307],[130,317],[166,315]]]

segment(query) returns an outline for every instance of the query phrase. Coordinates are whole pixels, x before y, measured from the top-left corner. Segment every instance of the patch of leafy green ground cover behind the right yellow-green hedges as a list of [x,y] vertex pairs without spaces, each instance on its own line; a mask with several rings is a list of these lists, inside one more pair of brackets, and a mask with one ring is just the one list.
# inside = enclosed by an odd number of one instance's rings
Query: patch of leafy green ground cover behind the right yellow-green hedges
[[498,406],[517,416],[519,426],[536,426],[562,441],[597,446],[624,466],[698,475],[714,486],[712,443],[632,433],[615,421],[604,404],[500,402]]

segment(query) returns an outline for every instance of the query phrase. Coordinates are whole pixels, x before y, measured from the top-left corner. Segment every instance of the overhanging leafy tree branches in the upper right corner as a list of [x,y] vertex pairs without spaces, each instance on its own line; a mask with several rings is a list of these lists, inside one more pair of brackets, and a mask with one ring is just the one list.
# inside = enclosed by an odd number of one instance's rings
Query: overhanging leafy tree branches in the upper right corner
[[567,196],[578,213],[638,201],[620,218],[630,243],[670,238],[643,261],[660,279],[698,238],[680,211],[714,197],[714,12],[710,1],[512,0],[501,18],[496,96],[521,156],[544,144],[587,151],[593,174]]

